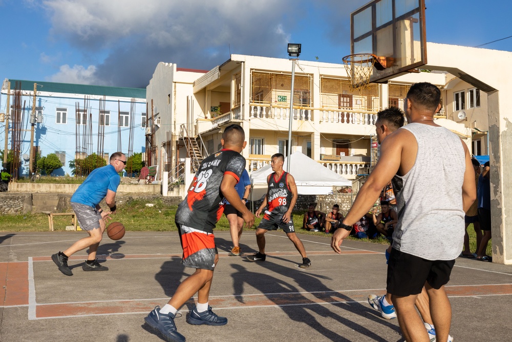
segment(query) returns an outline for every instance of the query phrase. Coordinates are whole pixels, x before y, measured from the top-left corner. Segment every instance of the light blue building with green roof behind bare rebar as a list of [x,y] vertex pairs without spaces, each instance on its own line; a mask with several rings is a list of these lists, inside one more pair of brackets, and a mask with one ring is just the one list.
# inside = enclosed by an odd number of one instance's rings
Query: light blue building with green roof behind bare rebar
[[7,149],[19,151],[19,175],[27,175],[32,122],[33,151],[57,154],[62,168],[52,175],[71,174],[70,160],[92,153],[108,163],[116,151],[127,156],[145,152],[146,113],[145,89],[6,79],[0,92],[0,149],[5,148],[9,120]]

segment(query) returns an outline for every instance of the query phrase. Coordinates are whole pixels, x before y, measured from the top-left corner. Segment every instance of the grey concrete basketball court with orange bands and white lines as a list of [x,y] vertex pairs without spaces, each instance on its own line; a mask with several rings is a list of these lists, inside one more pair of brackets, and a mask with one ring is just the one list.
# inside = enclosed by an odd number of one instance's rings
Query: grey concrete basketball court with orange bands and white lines
[[[50,255],[84,232],[1,233],[0,340],[160,341],[146,331],[144,316],[163,306],[190,269],[181,265],[177,232],[127,232],[105,238],[100,263],[107,272],[84,272],[84,251],[69,260],[73,276],[61,274]],[[312,266],[303,270],[293,244],[269,232],[267,260],[251,263],[227,255],[229,232],[218,232],[220,261],[210,292],[226,326],[192,326],[176,319],[187,341],[400,341],[396,319],[380,317],[367,302],[386,287],[386,246],[346,241],[343,254],[330,238],[298,234]],[[242,235],[242,251],[257,248],[254,231]],[[512,328],[512,267],[458,258],[446,287],[455,341],[505,341]]]

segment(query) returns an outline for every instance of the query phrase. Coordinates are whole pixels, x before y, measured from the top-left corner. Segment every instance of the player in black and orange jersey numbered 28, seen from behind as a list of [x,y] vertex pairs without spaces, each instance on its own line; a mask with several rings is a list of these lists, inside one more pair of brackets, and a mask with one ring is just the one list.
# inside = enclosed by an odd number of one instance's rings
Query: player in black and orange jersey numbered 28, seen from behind
[[245,134],[242,127],[231,125],[224,130],[221,139],[223,149],[205,158],[188,193],[176,212],[176,225],[183,247],[182,264],[195,268],[196,272],[182,281],[176,293],[164,307],[156,307],[145,317],[145,321],[166,340],[185,341],[174,324],[176,312],[196,292],[197,305],[187,315],[187,323],[194,325],[222,326],[226,317],[219,317],[211,311],[208,297],[214,268],[219,260],[213,229],[222,215],[226,199],[242,213],[250,227],[254,216],[242,204],[234,186],[245,168],[245,158],[240,154],[245,148]]

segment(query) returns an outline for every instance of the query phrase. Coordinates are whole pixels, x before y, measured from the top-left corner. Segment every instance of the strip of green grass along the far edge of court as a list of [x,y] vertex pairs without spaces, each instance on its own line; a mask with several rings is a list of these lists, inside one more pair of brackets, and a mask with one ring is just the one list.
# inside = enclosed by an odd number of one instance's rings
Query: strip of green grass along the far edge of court
[[[147,200],[133,200],[129,203],[120,203],[117,208],[116,215],[112,216],[113,221],[121,222],[128,231],[177,231],[174,217],[176,214],[176,206],[167,206],[160,200],[154,202],[153,207],[146,206]],[[304,211],[296,212],[293,215],[293,223],[297,233],[307,235],[327,236],[322,232],[308,232],[302,227],[302,219]],[[258,227],[261,218],[255,218],[254,227]],[[71,226],[71,216],[54,216],[55,231],[66,230],[66,226]],[[255,230],[255,228],[251,230]],[[217,231],[228,231],[229,223],[224,215],[217,223]],[[26,214],[26,215],[2,215],[0,216],[0,231],[4,232],[46,232],[48,231],[48,215],[47,214]],[[475,230],[471,224],[467,228],[470,235],[471,251],[476,249]],[[355,237],[348,239],[358,240]],[[372,243],[388,245],[385,238],[365,239]],[[492,255],[491,242],[487,246],[487,255]]]

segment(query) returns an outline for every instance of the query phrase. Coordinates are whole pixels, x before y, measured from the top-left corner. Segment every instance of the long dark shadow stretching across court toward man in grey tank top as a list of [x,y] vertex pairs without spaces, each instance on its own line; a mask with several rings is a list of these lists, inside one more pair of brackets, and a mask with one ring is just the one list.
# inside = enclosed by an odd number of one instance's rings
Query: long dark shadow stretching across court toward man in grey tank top
[[[275,258],[275,257],[272,257]],[[289,261],[286,259],[279,258],[281,260]],[[253,264],[254,265],[254,264]],[[339,324],[344,324],[350,329],[353,329],[365,336],[372,338],[375,341],[386,342],[386,339],[383,339],[375,332],[370,331],[365,326],[362,326],[355,321],[342,317],[338,314],[333,313],[328,309],[325,305],[316,304],[315,301],[312,301],[300,294],[300,292],[310,291],[312,295],[314,295],[317,299],[325,303],[333,303],[332,305],[342,308],[344,310],[350,311],[354,314],[361,315],[365,318],[372,319],[377,323],[386,325],[387,327],[399,332],[399,329],[386,322],[382,321],[379,317],[376,316],[375,311],[357,303],[350,297],[341,294],[339,292],[334,292],[333,290],[326,287],[321,279],[326,279],[327,277],[317,274],[312,274],[305,271],[293,270],[289,267],[285,267],[282,265],[278,265],[272,262],[269,262],[268,256],[267,260],[264,263],[258,263],[255,266],[262,266],[269,271],[275,272],[280,275],[287,276],[291,278],[293,281],[284,281],[282,279],[278,279],[269,275],[268,272],[251,272],[244,268],[242,265],[231,264],[231,267],[238,272],[233,273],[233,288],[234,295],[237,300],[243,303],[243,292],[244,292],[244,284],[250,285],[255,289],[260,290],[265,296],[271,300],[275,305],[281,306],[282,310],[293,320],[307,324],[311,328],[315,329],[322,335],[324,335],[329,340],[335,341],[349,341],[345,337],[339,335],[337,332],[332,331],[324,326],[321,321],[318,321],[312,314],[311,311],[316,313],[321,317],[332,318],[334,321]],[[297,284],[301,289],[294,287],[291,284]],[[271,293],[269,293],[271,292]],[[283,293],[293,293],[289,299],[286,299],[286,296]],[[279,295],[275,295],[272,293],[279,293]],[[304,305],[287,305],[293,304],[296,302],[304,303]],[[342,303],[339,303],[339,302]]]

